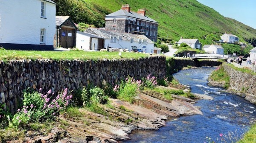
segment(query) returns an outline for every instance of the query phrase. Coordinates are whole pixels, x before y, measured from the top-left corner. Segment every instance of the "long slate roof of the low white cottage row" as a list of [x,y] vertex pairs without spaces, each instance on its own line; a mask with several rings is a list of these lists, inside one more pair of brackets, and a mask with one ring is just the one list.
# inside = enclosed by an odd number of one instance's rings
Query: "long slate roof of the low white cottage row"
[[145,35],[110,31],[110,30],[99,29],[99,28],[88,28],[84,32],[90,32],[90,31],[93,31],[93,33],[95,33],[96,35],[101,36],[105,39],[111,39],[111,36],[116,36],[116,38],[118,38],[119,36],[122,36],[122,40],[131,40],[131,38],[134,38],[134,40],[146,39],[148,43],[154,43],[150,39],[148,39]]

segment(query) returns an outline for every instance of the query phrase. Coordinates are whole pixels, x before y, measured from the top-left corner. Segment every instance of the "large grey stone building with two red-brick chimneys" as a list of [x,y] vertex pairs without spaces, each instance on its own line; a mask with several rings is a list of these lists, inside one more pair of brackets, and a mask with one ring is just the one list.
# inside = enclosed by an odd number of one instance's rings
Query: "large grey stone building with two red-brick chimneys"
[[141,34],[157,42],[158,22],[146,16],[145,8],[131,11],[129,4],[105,16],[105,29],[132,34]]

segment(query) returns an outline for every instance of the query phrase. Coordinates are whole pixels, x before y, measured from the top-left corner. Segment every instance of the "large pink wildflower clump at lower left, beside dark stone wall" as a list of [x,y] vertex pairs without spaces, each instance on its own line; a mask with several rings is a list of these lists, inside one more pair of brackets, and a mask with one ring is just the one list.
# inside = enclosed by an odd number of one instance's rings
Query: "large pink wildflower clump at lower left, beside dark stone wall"
[[[41,92],[41,88],[39,92]],[[12,121],[9,122],[10,126],[15,129],[25,126],[29,122],[54,120],[61,111],[66,109],[72,98],[72,95],[67,95],[67,88],[56,97],[52,90],[41,94],[30,89],[23,91],[23,96],[22,109],[18,109]]]

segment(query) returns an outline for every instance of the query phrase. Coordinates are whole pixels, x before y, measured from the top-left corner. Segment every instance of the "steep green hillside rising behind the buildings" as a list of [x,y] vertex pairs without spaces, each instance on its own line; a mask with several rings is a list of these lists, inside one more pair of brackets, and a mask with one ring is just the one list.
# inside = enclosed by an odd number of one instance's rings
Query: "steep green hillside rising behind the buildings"
[[[146,15],[159,22],[160,38],[205,39],[209,34],[225,32],[239,36],[240,41],[255,40],[256,30],[236,20],[223,17],[217,11],[196,0],[55,0],[57,15],[70,15],[74,22],[104,26],[104,16],[130,4],[131,11],[146,8]],[[256,46],[256,45],[255,45]]]

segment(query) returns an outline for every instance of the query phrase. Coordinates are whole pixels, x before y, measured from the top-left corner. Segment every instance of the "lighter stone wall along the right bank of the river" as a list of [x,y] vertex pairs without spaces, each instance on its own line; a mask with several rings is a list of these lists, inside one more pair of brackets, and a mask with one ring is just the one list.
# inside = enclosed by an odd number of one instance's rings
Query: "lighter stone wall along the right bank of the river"
[[230,85],[248,93],[249,95],[245,96],[245,100],[256,104],[256,75],[235,70],[227,64],[223,64],[223,67],[230,76]]

